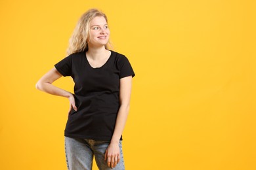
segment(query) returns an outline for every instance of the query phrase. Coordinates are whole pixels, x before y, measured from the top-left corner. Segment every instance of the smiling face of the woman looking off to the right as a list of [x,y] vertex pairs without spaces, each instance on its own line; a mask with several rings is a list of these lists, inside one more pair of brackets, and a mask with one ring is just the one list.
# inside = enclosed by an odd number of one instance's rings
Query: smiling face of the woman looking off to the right
[[103,16],[96,16],[90,24],[89,46],[102,46],[108,43],[110,29]]

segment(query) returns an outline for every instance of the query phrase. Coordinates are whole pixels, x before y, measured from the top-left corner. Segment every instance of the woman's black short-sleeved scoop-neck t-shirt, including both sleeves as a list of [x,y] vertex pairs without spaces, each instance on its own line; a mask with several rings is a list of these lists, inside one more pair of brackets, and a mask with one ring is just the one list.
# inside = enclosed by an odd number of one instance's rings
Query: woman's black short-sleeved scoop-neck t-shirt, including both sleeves
[[111,141],[120,107],[119,79],[135,73],[123,54],[110,51],[102,67],[91,67],[85,51],[70,54],[54,65],[60,74],[72,76],[75,82],[77,111],[70,111],[66,137]]

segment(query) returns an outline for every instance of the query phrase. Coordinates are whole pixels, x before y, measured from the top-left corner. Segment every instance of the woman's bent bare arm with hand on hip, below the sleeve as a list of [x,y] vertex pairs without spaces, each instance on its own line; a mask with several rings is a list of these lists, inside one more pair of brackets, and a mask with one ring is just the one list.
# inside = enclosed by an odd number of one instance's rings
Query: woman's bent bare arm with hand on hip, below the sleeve
[[75,107],[75,99],[74,99],[73,93],[70,93],[66,90],[53,86],[52,84],[55,80],[57,80],[61,76],[62,75],[54,67],[38,80],[38,82],[35,84],[35,88],[37,88],[37,90],[41,90],[43,92],[50,93],[52,95],[67,97],[70,100],[70,110],[72,109],[71,107],[73,107],[73,109],[77,111],[77,108]]

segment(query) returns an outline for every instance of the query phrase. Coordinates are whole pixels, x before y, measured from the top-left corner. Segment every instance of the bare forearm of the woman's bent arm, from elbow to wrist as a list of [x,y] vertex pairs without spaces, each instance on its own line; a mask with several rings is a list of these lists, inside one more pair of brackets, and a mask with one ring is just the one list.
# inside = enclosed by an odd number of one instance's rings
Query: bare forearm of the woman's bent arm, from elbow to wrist
[[58,88],[48,82],[38,82],[36,85],[36,88],[38,90],[41,90],[43,92],[46,92],[52,95],[58,95],[58,96],[67,97],[67,98],[70,97],[70,95],[72,95],[72,93],[67,92],[66,90],[63,90],[61,88]]

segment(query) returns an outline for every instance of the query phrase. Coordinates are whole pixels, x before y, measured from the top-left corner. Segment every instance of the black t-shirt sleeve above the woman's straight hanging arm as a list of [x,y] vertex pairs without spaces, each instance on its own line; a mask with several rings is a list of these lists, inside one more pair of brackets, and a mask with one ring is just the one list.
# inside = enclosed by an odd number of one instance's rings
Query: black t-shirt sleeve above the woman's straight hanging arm
[[135,76],[135,72],[133,71],[133,67],[131,67],[131,63],[129,59],[125,56],[121,56],[119,59],[119,78],[123,78],[125,76]]

